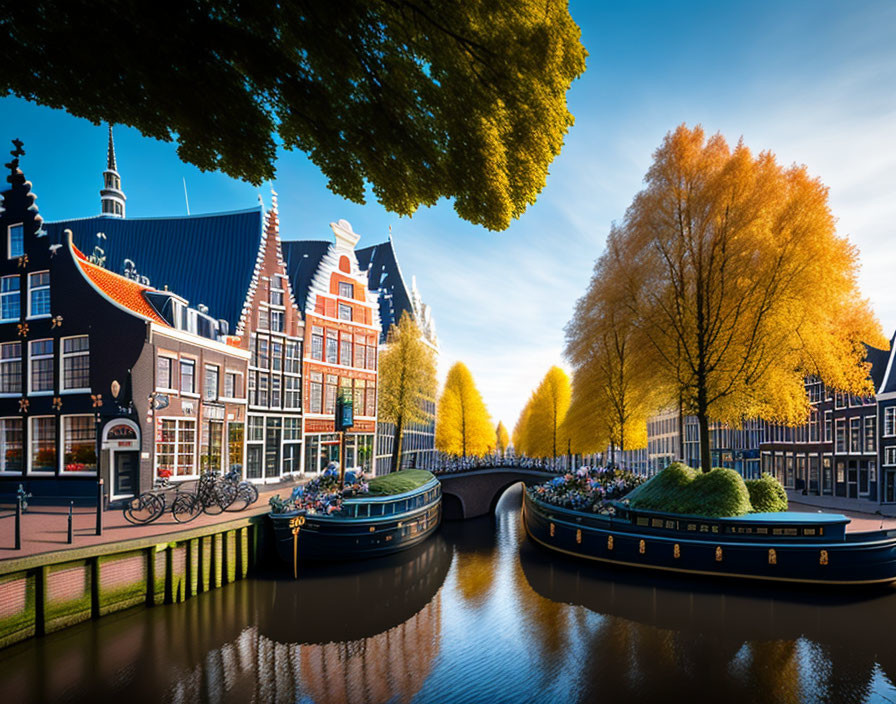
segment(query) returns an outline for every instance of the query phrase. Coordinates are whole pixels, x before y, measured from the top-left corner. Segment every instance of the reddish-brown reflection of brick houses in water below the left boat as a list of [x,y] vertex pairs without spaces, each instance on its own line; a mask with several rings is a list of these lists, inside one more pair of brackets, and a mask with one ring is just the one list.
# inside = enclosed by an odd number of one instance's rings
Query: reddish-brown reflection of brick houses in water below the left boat
[[253,626],[172,684],[168,700],[407,704],[439,651],[441,595],[404,623],[362,640],[278,643]]

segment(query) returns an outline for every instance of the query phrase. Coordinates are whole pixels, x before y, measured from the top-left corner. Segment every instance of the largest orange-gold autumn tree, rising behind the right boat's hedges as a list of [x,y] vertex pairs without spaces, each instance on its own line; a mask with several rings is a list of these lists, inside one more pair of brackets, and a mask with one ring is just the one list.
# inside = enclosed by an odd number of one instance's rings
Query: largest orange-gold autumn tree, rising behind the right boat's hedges
[[733,149],[682,125],[610,235],[618,298],[646,341],[645,372],[697,417],[803,422],[803,378],[871,391],[862,342],[886,347],[857,286],[858,251],[837,234],[828,190],[806,167]]

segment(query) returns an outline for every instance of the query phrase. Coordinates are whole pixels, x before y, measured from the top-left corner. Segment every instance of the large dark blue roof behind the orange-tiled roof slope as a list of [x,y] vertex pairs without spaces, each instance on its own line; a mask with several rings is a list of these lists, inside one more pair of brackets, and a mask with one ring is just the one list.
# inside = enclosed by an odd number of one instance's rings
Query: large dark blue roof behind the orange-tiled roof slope
[[[66,229],[75,246],[90,255],[99,244],[105,266],[124,273],[124,260],[149,277],[151,286],[166,285],[195,307],[208,306],[209,315],[223,318],[236,330],[252,281],[263,217],[261,207],[229,213],[171,218],[96,216],[44,223],[50,241],[62,243]],[[96,237],[106,235],[105,241]]]

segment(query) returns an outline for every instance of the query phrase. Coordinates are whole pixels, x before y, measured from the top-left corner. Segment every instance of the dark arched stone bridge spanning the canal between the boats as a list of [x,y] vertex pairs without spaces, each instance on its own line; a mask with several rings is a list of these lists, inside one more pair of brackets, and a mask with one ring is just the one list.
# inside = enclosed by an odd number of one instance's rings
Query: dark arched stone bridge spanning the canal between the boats
[[457,520],[494,513],[501,494],[514,484],[531,486],[558,475],[538,469],[483,467],[436,476],[442,482],[442,515]]

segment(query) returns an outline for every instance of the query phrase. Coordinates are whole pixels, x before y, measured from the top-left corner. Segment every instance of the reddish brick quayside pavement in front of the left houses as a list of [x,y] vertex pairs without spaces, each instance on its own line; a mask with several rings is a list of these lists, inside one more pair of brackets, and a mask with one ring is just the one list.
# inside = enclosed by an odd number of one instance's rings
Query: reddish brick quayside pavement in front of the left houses
[[[28,557],[60,550],[77,550],[80,548],[115,543],[134,538],[145,538],[153,535],[160,537],[169,533],[177,533],[192,528],[212,526],[216,523],[227,523],[238,518],[267,513],[270,510],[268,499],[275,494],[287,497],[296,484],[305,479],[286,480],[276,484],[258,485],[258,501],[244,511],[224,511],[217,516],[202,513],[189,523],[178,523],[166,511],[149,525],[133,525],[128,523],[120,509],[103,512],[103,534],[96,535],[96,510],[88,507],[76,507],[72,518],[73,541],[68,539],[68,507],[65,506],[33,506],[22,514],[22,549],[15,550],[15,511],[4,509],[0,513],[0,564],[4,560]],[[163,538],[164,539],[164,538]]]

